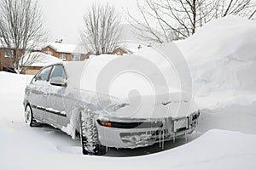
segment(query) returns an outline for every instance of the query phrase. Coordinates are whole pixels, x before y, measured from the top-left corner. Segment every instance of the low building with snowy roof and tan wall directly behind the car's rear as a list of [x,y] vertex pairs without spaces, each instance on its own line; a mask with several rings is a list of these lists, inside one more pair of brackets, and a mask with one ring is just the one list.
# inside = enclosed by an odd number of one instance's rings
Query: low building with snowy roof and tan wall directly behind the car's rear
[[44,54],[41,52],[33,52],[31,54],[26,54],[24,60],[29,59],[29,57],[33,58],[32,64],[23,64],[21,74],[35,75],[41,68],[43,68],[46,65],[53,65],[55,63],[62,62],[61,59],[57,59],[54,56]]

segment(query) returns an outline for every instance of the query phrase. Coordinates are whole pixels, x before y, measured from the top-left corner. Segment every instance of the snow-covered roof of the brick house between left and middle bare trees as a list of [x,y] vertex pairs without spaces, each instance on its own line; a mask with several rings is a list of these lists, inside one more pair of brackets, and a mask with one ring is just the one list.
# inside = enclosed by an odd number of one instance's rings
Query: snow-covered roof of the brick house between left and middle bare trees
[[44,45],[44,48],[50,46],[54,48],[56,52],[59,53],[69,53],[69,54],[87,54],[84,46],[77,44],[67,44],[61,42],[49,42]]

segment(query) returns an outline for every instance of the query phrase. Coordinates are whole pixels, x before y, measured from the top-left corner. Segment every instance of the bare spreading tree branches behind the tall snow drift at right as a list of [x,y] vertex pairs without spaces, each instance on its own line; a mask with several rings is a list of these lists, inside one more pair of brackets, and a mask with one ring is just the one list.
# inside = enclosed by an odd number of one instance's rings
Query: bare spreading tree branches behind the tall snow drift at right
[[[145,40],[171,42],[194,34],[198,27],[213,18],[239,14],[253,18],[255,6],[251,0],[145,0],[137,1],[142,19],[126,11],[128,21]],[[251,11],[250,9],[254,9]],[[247,11],[251,11],[251,15]],[[153,29],[155,26],[159,31]],[[143,37],[149,32],[151,37]]]

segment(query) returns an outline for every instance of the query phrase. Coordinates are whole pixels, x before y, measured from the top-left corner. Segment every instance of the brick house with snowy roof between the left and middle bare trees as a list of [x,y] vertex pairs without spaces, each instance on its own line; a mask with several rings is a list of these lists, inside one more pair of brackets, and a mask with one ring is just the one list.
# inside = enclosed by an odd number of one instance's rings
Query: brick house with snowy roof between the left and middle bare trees
[[80,61],[88,59],[90,55],[81,45],[65,44],[61,42],[47,43],[41,49],[41,52],[55,56],[64,61]]

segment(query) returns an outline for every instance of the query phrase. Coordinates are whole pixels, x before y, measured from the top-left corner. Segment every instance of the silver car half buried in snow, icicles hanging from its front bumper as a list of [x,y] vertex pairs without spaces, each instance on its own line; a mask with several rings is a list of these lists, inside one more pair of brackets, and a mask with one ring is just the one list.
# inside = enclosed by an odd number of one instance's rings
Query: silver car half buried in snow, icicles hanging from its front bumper
[[91,75],[86,78],[81,73],[86,62],[63,62],[38,71],[26,87],[23,103],[29,126],[47,123],[60,128],[81,140],[84,155],[103,155],[108,147],[137,148],[162,143],[195,130],[200,112],[193,99],[178,98],[185,93],[172,92],[172,98],[161,95],[155,101],[155,112],[150,114],[150,109],[130,114],[131,100],[129,103],[84,89],[92,82]]

